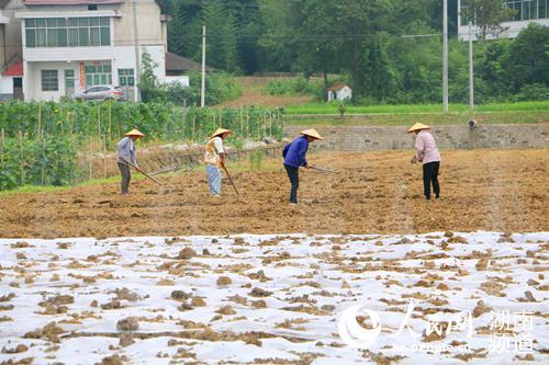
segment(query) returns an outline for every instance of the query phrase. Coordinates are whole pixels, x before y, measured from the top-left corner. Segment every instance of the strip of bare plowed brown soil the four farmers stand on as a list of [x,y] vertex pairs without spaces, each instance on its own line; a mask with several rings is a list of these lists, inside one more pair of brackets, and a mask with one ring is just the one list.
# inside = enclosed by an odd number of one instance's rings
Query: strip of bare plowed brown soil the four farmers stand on
[[[301,173],[299,206],[287,203],[285,172],[234,173],[240,201],[223,181],[208,193],[203,172],[160,175],[119,195],[117,184],[0,198],[0,237],[371,233],[549,230],[547,150],[442,151],[441,199],[425,202],[422,168],[410,151],[310,153],[338,174]],[[276,163],[279,161],[267,162]],[[281,167],[281,164],[280,164]]]

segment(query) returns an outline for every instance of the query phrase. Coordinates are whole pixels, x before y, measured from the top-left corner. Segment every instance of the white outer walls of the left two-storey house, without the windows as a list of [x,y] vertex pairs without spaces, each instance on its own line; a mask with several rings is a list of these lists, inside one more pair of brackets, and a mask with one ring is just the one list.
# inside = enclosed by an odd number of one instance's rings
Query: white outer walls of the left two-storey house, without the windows
[[[16,2],[20,3],[21,0]],[[98,4],[97,11],[89,11],[88,5],[18,5],[16,20],[19,44],[26,39],[24,22],[26,18],[80,18],[109,16],[111,20],[111,46],[99,47],[40,47],[26,48],[23,44],[23,90],[25,100],[54,100],[66,95],[64,70],[75,70],[75,92],[81,91],[80,62],[109,61],[111,78],[119,85],[119,69],[133,69],[137,82],[137,65],[141,67],[143,53],[148,52],[157,65],[155,75],[159,82],[165,82],[165,55],[167,50],[166,23],[161,20],[160,8],[155,0],[135,2],[137,13],[137,44],[139,59],[135,56],[135,26],[133,3]],[[21,48],[20,48],[21,49]],[[57,70],[58,90],[42,91],[41,70]]]

